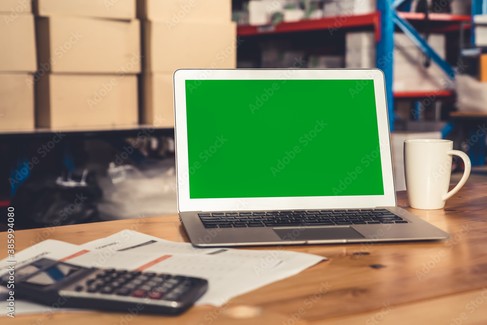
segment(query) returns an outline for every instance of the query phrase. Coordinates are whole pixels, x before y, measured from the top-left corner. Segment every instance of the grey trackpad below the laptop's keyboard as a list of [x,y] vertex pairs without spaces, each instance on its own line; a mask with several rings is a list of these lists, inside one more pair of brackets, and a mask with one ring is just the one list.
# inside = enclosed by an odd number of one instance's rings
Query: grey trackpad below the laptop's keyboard
[[282,240],[320,240],[365,238],[351,227],[273,228]]

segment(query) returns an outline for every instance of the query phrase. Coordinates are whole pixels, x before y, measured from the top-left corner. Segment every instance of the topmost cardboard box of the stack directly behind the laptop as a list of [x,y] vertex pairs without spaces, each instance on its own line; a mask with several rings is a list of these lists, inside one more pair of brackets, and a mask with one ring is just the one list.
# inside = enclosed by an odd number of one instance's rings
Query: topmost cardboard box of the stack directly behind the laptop
[[162,21],[167,27],[180,22],[230,22],[231,0],[137,0],[137,18]]

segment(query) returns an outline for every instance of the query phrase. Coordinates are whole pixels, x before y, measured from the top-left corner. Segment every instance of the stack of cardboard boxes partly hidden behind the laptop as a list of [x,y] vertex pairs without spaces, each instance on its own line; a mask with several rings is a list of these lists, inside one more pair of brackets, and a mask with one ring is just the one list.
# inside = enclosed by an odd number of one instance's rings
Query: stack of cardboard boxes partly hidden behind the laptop
[[236,67],[231,0],[138,0],[137,17],[143,20],[142,122],[173,127],[176,70]]

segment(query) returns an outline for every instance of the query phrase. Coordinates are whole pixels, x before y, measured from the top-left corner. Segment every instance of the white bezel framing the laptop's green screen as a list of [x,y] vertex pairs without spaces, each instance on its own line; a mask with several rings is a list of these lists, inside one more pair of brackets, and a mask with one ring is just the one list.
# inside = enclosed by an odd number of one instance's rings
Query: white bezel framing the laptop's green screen
[[[384,185],[383,195],[299,196],[253,198],[189,197],[189,163],[187,151],[186,80],[257,80],[257,79],[358,79],[374,80],[380,160]],[[182,69],[174,73],[174,122],[176,140],[176,174],[178,210],[238,211],[238,210],[304,210],[353,209],[396,206],[389,118],[384,74],[379,69]],[[356,128],[360,141],[361,125]]]

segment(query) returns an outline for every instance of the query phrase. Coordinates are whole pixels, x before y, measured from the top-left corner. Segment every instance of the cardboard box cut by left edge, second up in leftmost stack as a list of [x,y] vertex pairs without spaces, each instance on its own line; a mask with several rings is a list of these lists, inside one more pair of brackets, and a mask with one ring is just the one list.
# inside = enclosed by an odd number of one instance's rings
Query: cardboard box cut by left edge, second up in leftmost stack
[[0,15],[0,72],[37,70],[34,16]]

